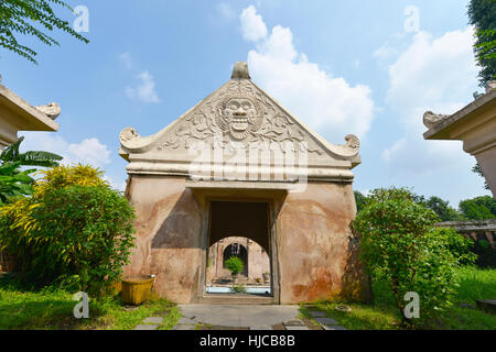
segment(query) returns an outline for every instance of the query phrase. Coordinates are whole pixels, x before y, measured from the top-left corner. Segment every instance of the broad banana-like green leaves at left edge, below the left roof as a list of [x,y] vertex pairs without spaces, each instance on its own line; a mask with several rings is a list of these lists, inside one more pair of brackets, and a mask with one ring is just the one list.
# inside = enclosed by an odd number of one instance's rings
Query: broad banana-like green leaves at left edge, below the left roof
[[43,151],[20,153],[19,147],[23,140],[21,136],[0,154],[0,206],[33,193],[34,180],[30,175],[36,169],[21,170],[21,166],[52,167],[57,166],[62,160],[60,155]]

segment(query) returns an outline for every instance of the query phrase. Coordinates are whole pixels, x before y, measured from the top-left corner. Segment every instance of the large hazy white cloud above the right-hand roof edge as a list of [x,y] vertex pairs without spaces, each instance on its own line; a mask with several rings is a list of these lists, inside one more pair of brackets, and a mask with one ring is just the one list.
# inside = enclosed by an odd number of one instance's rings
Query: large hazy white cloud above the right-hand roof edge
[[405,124],[406,134],[382,152],[382,160],[398,172],[421,174],[473,166],[474,158],[462,151],[461,142],[425,141],[422,136],[427,110],[453,113],[470,102],[477,84],[472,44],[472,28],[438,38],[418,32],[389,66],[387,101]]

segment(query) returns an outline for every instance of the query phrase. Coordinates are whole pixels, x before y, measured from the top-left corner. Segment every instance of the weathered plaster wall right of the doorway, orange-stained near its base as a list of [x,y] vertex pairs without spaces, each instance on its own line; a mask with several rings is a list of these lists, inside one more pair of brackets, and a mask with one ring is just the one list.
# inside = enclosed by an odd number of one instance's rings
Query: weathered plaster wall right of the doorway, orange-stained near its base
[[366,299],[351,229],[355,213],[352,185],[309,184],[288,195],[277,221],[281,304]]

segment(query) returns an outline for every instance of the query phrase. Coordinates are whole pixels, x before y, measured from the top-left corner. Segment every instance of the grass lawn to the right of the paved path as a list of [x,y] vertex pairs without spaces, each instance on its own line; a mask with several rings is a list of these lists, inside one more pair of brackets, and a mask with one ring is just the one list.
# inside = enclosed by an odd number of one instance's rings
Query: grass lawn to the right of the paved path
[[[454,306],[435,321],[429,321],[423,329],[495,330],[496,315],[478,309],[462,307],[475,306],[476,299],[496,298],[496,270],[462,267],[456,272],[456,295]],[[403,329],[401,316],[393,306],[392,296],[385,285],[374,285],[375,304],[364,305],[343,301],[317,301],[312,306],[324,310],[349,330],[397,330]],[[347,305],[351,312],[335,310],[336,306]],[[422,302],[420,302],[422,309]],[[301,307],[301,314],[310,318],[309,308]]]

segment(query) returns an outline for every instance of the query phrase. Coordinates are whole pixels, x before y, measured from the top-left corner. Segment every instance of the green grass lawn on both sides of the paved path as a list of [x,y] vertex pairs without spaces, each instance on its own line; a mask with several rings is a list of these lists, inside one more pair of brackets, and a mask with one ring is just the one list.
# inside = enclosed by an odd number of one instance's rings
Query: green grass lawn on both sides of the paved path
[[[478,309],[462,307],[475,306],[475,299],[496,297],[496,270],[463,267],[457,270],[455,305],[440,319],[430,321],[427,329],[496,329],[496,315]],[[312,304],[335,318],[349,330],[397,330],[403,329],[401,316],[392,305],[392,297],[385,285],[374,285],[374,305],[343,301],[319,301]],[[76,301],[66,292],[22,292],[9,286],[9,280],[0,278],[0,330],[132,330],[151,316],[164,317],[159,329],[174,327],[181,314],[177,307],[165,299],[149,300],[134,310],[126,310],[119,296],[90,299],[89,319],[76,319],[73,309]],[[351,312],[335,310],[346,304]],[[301,315],[311,318],[305,306]]]

